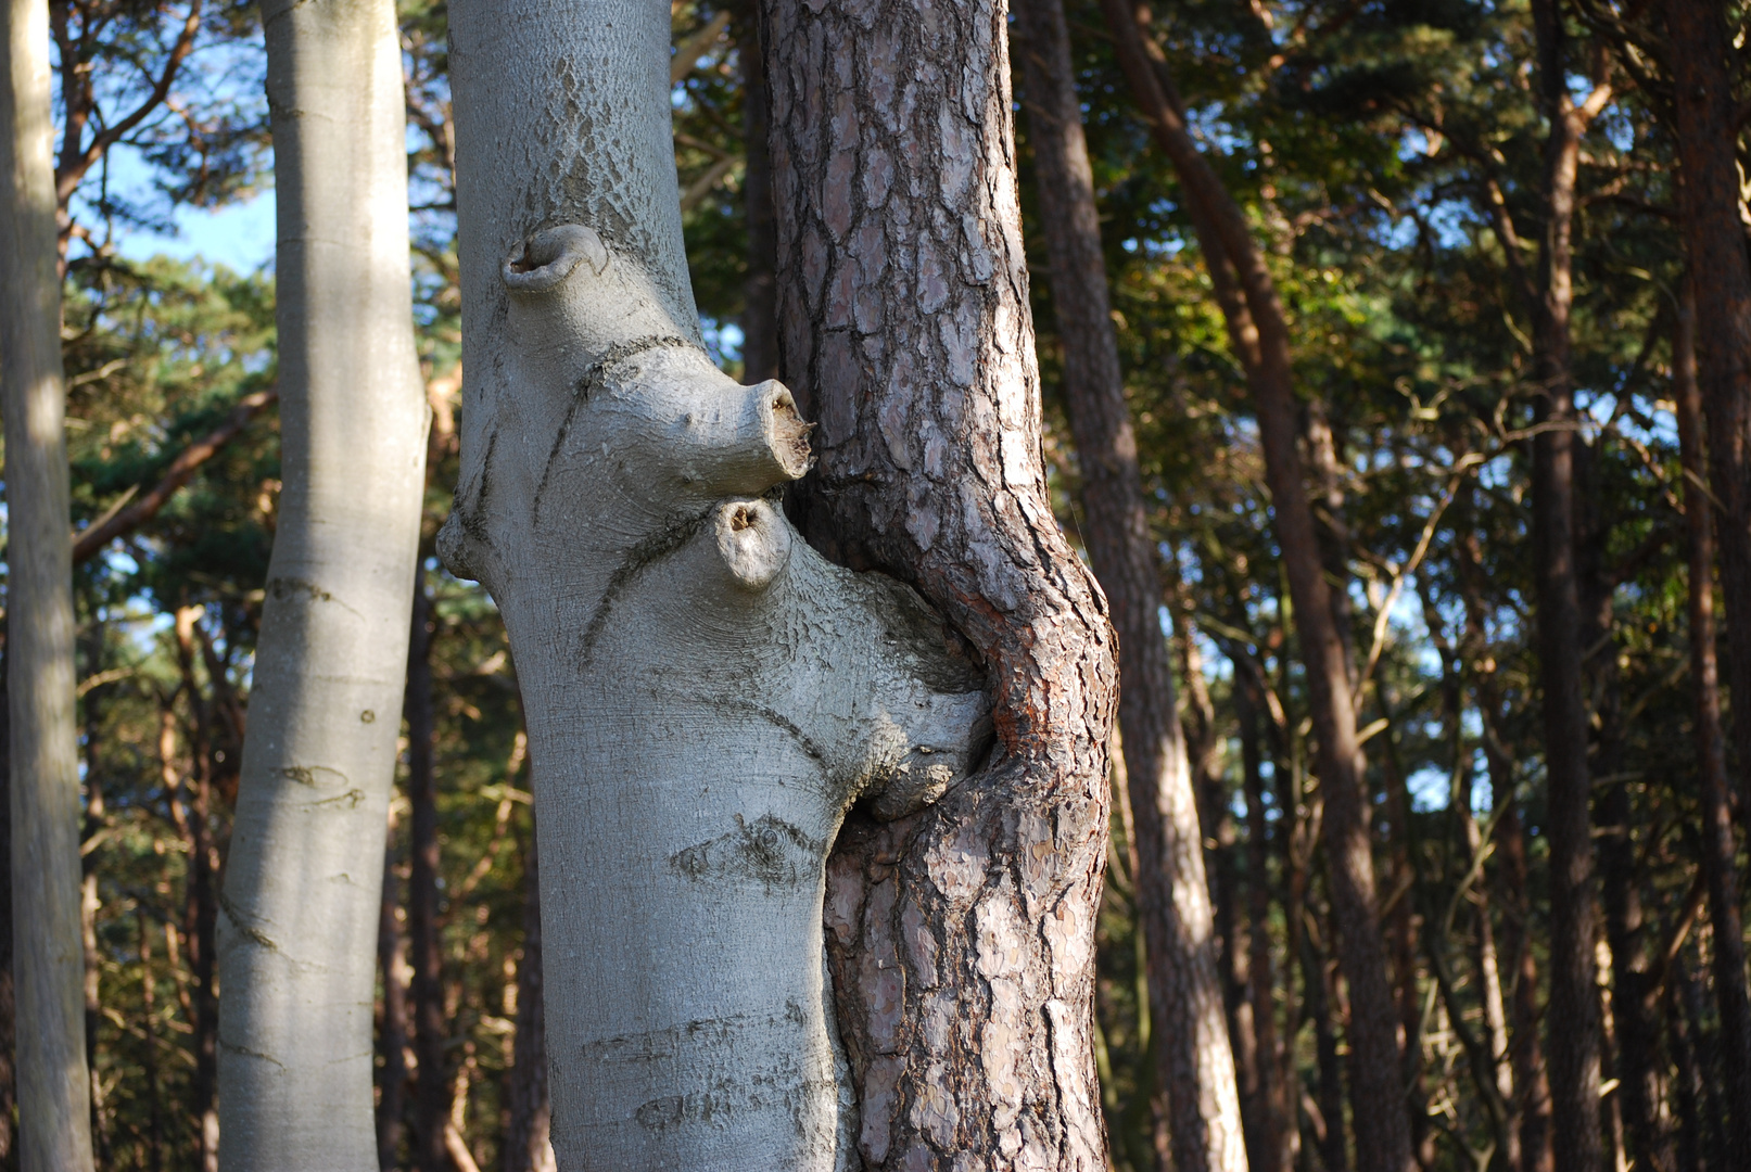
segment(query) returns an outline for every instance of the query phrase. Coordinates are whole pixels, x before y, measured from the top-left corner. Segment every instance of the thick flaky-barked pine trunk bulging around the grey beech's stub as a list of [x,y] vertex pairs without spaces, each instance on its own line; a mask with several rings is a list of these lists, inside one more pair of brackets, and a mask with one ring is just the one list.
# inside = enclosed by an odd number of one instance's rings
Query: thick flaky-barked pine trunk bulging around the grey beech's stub
[[1114,647],[1052,520],[1007,5],[765,5],[783,369],[821,420],[804,530],[984,659],[998,743],[858,820],[828,943],[868,1169],[1103,1169],[1093,929]]

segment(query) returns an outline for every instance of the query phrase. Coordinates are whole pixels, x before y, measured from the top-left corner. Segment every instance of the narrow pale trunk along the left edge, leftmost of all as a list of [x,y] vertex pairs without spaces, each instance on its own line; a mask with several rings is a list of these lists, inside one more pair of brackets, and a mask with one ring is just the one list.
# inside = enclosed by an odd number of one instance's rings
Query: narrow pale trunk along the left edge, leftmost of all
[[0,413],[19,1167],[91,1169],[81,1006],[74,563],[61,280],[49,163],[49,7],[0,9]]

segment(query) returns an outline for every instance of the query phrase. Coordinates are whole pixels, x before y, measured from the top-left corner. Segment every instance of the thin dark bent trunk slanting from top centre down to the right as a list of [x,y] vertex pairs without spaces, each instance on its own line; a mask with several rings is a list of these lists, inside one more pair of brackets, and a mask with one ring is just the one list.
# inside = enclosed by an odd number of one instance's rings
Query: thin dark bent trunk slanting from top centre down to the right
[[[1114,31],[1131,94],[1180,177],[1187,212],[1201,224],[1198,234],[1212,280],[1220,292],[1226,276],[1219,273],[1231,271],[1245,303],[1247,315],[1241,317],[1233,311],[1233,296],[1219,296],[1231,345],[1247,369],[1259,422],[1266,485],[1294,600],[1319,742],[1326,854],[1340,925],[1338,957],[1350,985],[1350,1100],[1362,1107],[1354,1120],[1357,1165],[1362,1172],[1406,1172],[1413,1167],[1410,1113],[1387,1109],[1387,1104],[1404,1104],[1404,1086],[1399,1078],[1399,1023],[1378,920],[1355,703],[1296,446],[1299,427],[1283,304],[1245,215],[1198,152],[1184,115],[1163,87],[1164,68],[1150,59],[1129,0],[1101,0],[1101,10]],[[1212,243],[1219,252],[1210,252]]]

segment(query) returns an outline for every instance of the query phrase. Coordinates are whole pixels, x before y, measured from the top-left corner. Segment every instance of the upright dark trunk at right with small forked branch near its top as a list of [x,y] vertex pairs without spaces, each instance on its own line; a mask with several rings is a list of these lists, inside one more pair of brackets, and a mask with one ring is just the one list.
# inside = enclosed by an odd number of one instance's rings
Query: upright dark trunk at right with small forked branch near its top
[[1544,143],[1544,234],[1532,290],[1539,432],[1532,439],[1532,548],[1537,577],[1537,649],[1543,687],[1546,815],[1550,836],[1551,1148],[1557,1172],[1599,1172],[1600,1020],[1593,939],[1593,841],[1586,764],[1581,596],[1576,542],[1578,420],[1569,371],[1574,299],[1571,233],[1585,115],[1567,91],[1562,14],[1534,0],[1537,84],[1550,121]]

